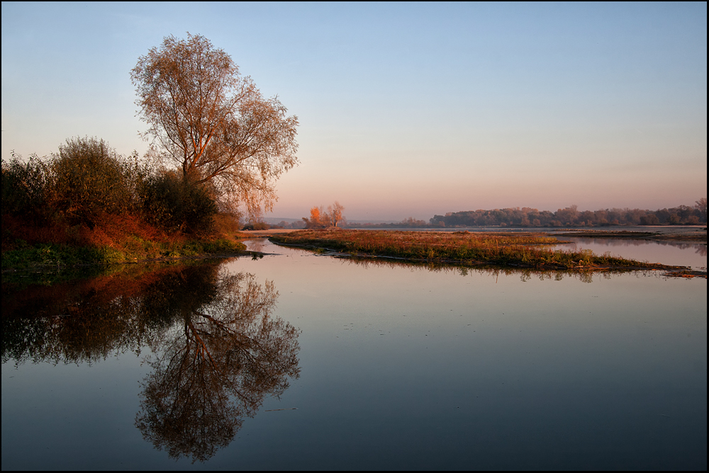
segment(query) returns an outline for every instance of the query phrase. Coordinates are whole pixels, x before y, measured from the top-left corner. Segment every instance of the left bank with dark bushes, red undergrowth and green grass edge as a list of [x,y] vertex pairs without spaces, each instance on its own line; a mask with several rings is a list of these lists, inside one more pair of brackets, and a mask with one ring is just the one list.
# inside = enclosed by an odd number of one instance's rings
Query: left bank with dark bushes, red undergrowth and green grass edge
[[[77,137],[2,161],[2,269],[70,268],[237,253],[235,209],[195,176]],[[227,210],[230,209],[230,210]]]

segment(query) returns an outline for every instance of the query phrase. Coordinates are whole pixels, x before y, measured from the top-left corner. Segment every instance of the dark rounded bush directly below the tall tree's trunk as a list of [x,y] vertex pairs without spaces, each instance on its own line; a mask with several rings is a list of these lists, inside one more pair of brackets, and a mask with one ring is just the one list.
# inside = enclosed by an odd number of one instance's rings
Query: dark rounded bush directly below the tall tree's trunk
[[169,232],[199,233],[212,227],[217,205],[205,186],[164,173],[147,178],[140,194],[146,220]]

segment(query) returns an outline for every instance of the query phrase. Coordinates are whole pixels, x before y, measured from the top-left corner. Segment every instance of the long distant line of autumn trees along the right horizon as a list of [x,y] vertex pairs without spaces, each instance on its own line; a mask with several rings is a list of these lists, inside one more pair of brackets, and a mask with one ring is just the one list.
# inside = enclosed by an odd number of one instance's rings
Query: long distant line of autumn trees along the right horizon
[[688,207],[659,210],[601,209],[578,210],[576,205],[556,212],[530,207],[495,210],[469,210],[434,215],[429,220],[433,227],[603,227],[609,225],[706,224],[707,200],[701,198]]

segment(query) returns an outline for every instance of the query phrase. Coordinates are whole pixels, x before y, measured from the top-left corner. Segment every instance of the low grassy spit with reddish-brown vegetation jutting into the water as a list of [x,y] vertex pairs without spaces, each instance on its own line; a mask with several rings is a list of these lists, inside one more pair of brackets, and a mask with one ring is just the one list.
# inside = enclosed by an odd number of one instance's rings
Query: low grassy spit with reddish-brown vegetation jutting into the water
[[549,248],[559,241],[541,234],[469,232],[386,232],[377,230],[301,230],[272,236],[280,244],[330,249],[352,256],[387,256],[412,261],[491,264],[527,268],[669,268],[591,251]]

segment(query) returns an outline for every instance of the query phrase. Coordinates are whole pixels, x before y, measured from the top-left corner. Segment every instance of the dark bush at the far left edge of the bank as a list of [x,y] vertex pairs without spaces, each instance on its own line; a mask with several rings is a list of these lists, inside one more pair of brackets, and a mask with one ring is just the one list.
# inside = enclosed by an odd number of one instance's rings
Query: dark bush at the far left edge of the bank
[[47,204],[47,166],[35,155],[2,161],[2,215],[41,217]]

